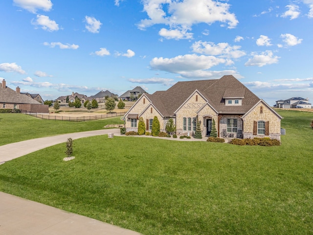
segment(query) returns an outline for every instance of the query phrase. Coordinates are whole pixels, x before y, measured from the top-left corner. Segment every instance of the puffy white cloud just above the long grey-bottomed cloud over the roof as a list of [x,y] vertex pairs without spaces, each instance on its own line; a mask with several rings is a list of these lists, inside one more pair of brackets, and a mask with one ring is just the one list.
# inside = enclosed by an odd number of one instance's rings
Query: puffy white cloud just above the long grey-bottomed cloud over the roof
[[192,51],[206,55],[216,55],[224,58],[240,58],[246,55],[246,52],[239,50],[240,46],[230,46],[228,43],[214,44],[212,42],[195,42]]

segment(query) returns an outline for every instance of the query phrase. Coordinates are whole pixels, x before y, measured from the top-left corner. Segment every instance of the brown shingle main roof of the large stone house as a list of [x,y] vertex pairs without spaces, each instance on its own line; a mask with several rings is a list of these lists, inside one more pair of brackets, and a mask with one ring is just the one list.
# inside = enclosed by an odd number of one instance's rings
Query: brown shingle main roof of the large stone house
[[[198,90],[220,113],[245,114],[260,98],[232,75],[215,80],[178,82],[164,92],[147,96],[163,116],[173,116],[186,99]],[[225,106],[224,95],[243,97],[241,106]]]

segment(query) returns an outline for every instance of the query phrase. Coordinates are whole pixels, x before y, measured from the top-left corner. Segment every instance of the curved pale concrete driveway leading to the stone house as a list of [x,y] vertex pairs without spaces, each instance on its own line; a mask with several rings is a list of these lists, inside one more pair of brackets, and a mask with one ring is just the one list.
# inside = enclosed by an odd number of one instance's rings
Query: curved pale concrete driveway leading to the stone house
[[67,141],[67,138],[72,138],[73,140],[90,137],[105,135],[108,133],[113,133],[114,136],[120,136],[120,129],[106,129],[106,130],[96,130],[96,131],[84,131],[69,133],[64,135],[49,136],[44,138],[38,138],[28,141],[20,141],[15,143],[10,143],[0,146],[0,163],[10,161],[15,158],[22,157],[26,154],[35,152],[37,150]]

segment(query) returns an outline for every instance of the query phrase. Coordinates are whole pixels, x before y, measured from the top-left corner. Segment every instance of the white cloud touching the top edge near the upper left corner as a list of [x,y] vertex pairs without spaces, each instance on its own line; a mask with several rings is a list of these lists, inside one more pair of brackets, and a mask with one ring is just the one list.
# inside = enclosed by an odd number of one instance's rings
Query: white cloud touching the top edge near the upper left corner
[[50,11],[52,8],[51,0],[13,0],[13,2],[15,5],[34,14],[38,9]]

